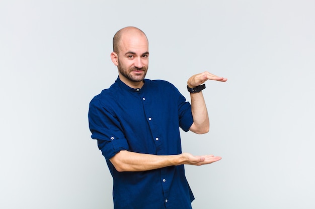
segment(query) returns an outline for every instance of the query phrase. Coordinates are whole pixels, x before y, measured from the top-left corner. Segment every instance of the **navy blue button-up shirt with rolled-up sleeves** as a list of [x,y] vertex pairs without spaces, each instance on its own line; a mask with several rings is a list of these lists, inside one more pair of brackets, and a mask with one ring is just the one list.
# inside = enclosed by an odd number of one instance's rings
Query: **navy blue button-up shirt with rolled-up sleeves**
[[109,159],[120,150],[180,154],[179,128],[188,131],[192,123],[190,103],[167,81],[145,79],[141,89],[133,89],[118,78],[92,99],[90,130],[113,176],[115,209],[191,208],[184,165],[118,172]]

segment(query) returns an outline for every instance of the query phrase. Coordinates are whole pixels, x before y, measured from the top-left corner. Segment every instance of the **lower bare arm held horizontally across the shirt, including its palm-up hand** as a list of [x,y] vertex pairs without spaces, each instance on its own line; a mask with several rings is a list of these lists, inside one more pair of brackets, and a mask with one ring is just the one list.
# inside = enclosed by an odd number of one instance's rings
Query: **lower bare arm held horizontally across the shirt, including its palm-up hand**
[[220,160],[221,157],[213,155],[193,156],[189,153],[178,155],[153,155],[141,154],[121,150],[110,161],[116,170],[122,171],[145,171],[172,165],[205,165]]

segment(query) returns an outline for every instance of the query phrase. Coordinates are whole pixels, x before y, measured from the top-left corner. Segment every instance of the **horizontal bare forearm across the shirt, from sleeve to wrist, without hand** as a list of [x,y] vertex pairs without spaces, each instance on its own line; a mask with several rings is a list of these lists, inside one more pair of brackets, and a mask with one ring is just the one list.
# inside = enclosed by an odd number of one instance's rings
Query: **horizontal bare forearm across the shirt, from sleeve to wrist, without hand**
[[117,171],[145,171],[181,163],[180,155],[153,155],[122,150],[110,159]]

